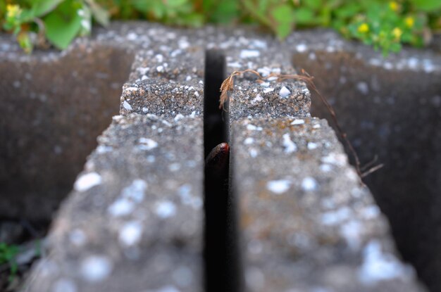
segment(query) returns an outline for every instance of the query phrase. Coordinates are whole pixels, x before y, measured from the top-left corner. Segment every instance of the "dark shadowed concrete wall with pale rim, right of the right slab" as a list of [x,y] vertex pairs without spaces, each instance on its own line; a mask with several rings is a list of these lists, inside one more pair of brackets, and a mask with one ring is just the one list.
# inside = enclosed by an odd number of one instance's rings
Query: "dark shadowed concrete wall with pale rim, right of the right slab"
[[[315,76],[362,163],[378,155],[385,166],[366,178],[392,225],[404,259],[432,291],[441,289],[440,152],[441,56],[404,49],[387,59],[334,32],[293,34],[296,68]],[[329,119],[317,96],[311,114]]]

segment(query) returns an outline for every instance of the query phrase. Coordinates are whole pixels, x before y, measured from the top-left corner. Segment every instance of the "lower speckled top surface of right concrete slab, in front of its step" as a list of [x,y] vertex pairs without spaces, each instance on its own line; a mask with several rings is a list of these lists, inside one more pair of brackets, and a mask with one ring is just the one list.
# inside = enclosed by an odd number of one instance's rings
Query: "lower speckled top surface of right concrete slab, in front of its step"
[[245,291],[423,291],[325,120],[232,124]]

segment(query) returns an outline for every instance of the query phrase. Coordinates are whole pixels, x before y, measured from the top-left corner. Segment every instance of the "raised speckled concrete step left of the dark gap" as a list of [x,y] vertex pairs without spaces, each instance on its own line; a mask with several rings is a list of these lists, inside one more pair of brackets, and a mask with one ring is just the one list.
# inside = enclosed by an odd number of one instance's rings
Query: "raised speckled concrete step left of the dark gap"
[[160,43],[135,56],[130,83],[123,87],[120,112],[201,115],[205,53],[201,39],[193,42],[164,27],[150,34],[162,36]]

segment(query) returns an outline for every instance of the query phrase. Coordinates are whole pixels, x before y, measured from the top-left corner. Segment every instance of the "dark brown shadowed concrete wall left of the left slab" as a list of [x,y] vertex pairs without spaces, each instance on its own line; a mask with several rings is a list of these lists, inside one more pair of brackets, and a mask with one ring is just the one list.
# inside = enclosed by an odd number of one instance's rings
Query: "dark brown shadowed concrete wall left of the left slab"
[[133,54],[77,42],[23,56],[8,36],[0,43],[0,214],[49,222],[118,113]]

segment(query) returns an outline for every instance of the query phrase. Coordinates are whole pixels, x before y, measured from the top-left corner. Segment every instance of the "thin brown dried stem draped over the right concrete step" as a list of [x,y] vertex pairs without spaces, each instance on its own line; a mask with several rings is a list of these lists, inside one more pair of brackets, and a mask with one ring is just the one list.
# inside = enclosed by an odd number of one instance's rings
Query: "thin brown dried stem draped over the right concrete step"
[[300,81],[305,82],[306,85],[309,87],[309,89],[316,92],[316,94],[318,95],[318,97],[320,97],[320,99],[323,102],[323,104],[325,105],[325,107],[328,109],[328,112],[330,113],[331,118],[333,119],[334,125],[337,128],[337,132],[340,134],[340,137],[342,137],[342,139],[344,140],[344,143],[347,145],[347,148],[349,148],[349,152],[354,157],[355,168],[356,168],[357,174],[359,174],[359,177],[361,177],[361,178],[366,177],[366,175],[371,174],[372,172],[375,172],[376,170],[379,170],[381,167],[383,167],[383,164],[380,164],[380,165],[375,165],[375,166],[369,168],[365,172],[361,171],[359,155],[356,154],[354,146],[352,146],[349,139],[347,139],[347,134],[345,132],[343,132],[342,127],[340,127],[340,124],[338,123],[338,120],[337,120],[337,115],[335,115],[334,108],[330,105],[328,100],[325,99],[325,97],[323,95],[321,95],[320,91],[318,91],[316,84],[314,84],[314,82],[313,82],[313,76],[309,75],[305,70],[302,70],[302,75],[298,75],[298,74],[285,75],[285,74],[271,73],[270,75],[268,75],[266,77],[262,77],[259,74],[259,72],[257,72],[256,70],[251,70],[251,69],[242,70],[242,71],[234,71],[230,74],[230,76],[227,77],[227,79],[223,80],[223,82],[221,84],[221,99],[219,101],[219,103],[220,103],[219,108],[223,108],[223,104],[226,101],[228,101],[228,94],[232,93],[232,90],[234,89],[234,77],[238,76],[238,75],[243,75],[244,73],[247,73],[247,72],[250,72],[250,73],[256,75],[259,78],[257,80],[257,82],[267,80],[268,78],[271,78],[271,77],[278,77],[278,79],[277,79],[278,82],[281,82],[283,80],[300,80]]

